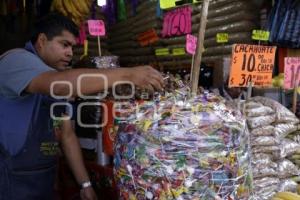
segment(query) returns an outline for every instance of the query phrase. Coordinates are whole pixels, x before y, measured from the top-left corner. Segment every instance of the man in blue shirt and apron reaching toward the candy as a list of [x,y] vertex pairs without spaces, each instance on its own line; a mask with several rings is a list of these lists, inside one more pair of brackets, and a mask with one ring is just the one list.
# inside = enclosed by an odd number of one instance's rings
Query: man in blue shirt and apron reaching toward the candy
[[[50,108],[56,96],[99,93],[116,81],[130,81],[149,90],[162,89],[163,79],[150,66],[120,69],[70,69],[75,24],[49,14],[37,24],[24,49],[0,57],[0,199],[53,199],[55,149]],[[78,80],[82,74],[101,75]],[[55,84],[67,82],[68,84]],[[53,87],[51,87],[53,86]],[[51,95],[52,93],[52,95]],[[80,146],[69,120],[60,129],[60,143],[81,198],[96,199],[83,164]]]

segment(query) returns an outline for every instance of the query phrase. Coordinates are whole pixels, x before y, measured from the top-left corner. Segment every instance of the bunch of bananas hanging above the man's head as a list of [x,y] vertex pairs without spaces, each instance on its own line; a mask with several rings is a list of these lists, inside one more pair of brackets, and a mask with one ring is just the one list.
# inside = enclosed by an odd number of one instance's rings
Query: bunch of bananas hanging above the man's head
[[77,26],[90,14],[92,0],[53,0],[51,11],[58,11],[71,18]]

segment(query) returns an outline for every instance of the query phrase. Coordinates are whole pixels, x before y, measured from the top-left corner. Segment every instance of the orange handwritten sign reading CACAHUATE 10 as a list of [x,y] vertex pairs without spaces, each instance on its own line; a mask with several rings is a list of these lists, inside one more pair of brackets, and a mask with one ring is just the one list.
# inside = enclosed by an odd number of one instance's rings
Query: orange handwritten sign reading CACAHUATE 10
[[274,46],[233,45],[229,87],[271,86],[275,52]]

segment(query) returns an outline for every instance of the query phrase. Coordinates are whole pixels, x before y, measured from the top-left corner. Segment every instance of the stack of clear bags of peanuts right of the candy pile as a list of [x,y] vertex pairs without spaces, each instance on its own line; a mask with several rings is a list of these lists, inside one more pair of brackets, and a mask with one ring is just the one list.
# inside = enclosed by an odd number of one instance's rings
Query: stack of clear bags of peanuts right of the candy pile
[[264,97],[247,102],[245,114],[250,129],[255,198],[268,200],[277,192],[296,192],[297,180],[293,178],[300,171],[289,158],[295,158],[300,144],[287,136],[298,130],[299,120],[278,102]]

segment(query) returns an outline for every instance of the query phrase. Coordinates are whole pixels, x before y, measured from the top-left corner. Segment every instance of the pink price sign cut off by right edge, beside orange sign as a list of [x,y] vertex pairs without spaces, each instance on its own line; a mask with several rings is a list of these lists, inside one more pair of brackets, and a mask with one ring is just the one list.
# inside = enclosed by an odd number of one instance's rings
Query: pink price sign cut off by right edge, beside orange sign
[[300,83],[300,58],[287,57],[284,59],[284,88],[293,89]]

